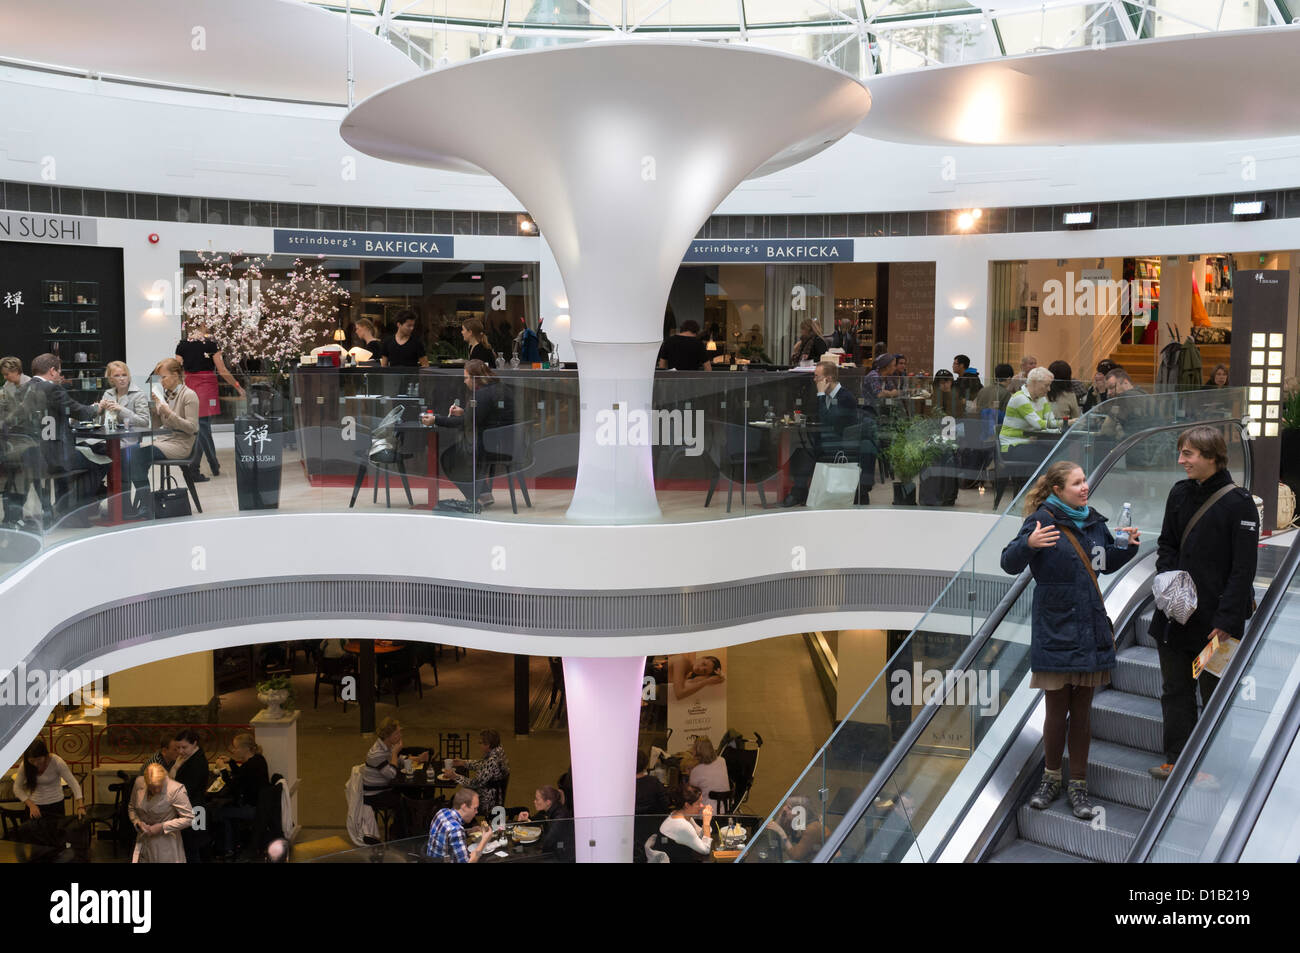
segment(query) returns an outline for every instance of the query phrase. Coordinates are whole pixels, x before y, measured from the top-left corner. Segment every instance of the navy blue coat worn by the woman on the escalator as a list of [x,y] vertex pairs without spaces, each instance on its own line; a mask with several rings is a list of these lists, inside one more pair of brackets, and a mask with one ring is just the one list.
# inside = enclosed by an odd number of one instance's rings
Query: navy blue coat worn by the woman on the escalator
[[[1036,523],[1056,525],[1061,538],[1048,549],[1030,549]],[[1002,550],[1002,569],[1034,573],[1034,608],[1030,636],[1030,668],[1035,672],[1101,672],[1115,667],[1115,638],[1097,588],[1079,554],[1066,538],[1072,532],[1083,551],[1101,566],[1097,573],[1114,572],[1138,554],[1138,546],[1119,549],[1106,529],[1106,517],[1088,510],[1079,529],[1049,503],[1040,506]],[[1097,556],[1102,556],[1097,559]]]

